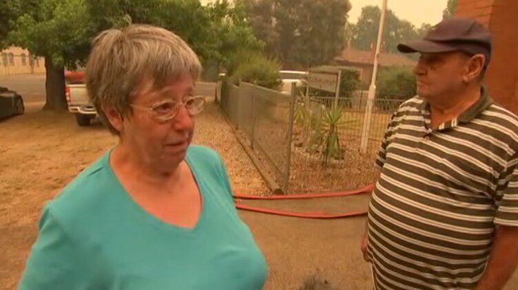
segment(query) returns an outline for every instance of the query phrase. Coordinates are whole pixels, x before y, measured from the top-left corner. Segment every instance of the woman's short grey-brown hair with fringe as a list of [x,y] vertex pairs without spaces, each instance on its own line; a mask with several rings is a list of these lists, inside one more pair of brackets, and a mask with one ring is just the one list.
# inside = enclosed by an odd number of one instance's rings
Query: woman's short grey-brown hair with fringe
[[145,82],[160,89],[187,72],[196,81],[201,69],[198,56],[173,32],[152,25],[130,25],[105,30],[94,38],[86,65],[86,87],[101,120],[118,135],[103,106],[128,115],[132,112],[130,96]]

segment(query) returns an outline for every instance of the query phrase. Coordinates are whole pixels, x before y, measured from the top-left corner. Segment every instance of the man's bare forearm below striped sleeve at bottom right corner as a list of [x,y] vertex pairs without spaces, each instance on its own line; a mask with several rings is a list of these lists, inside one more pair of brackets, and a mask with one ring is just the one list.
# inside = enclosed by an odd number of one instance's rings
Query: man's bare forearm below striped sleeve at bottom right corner
[[503,289],[518,265],[518,227],[501,225],[477,290]]

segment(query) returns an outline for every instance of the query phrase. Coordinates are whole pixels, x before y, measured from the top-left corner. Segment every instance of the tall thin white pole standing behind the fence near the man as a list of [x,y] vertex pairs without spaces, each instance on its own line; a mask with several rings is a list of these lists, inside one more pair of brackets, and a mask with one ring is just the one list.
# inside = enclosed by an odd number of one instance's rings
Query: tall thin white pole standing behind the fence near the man
[[372,108],[373,108],[374,98],[376,95],[377,63],[378,63],[378,58],[380,56],[380,47],[381,47],[381,43],[382,43],[383,27],[385,25],[386,1],[387,0],[383,0],[382,15],[380,18],[380,27],[377,31],[377,42],[376,42],[376,52],[375,52],[375,56],[374,56],[373,74],[372,74],[372,78],[371,78],[371,86],[369,87],[369,95],[367,96],[365,117],[364,117],[364,121],[363,121],[363,129],[362,129],[362,141],[360,143],[360,151],[362,153],[366,153],[367,144],[369,144],[369,131],[371,131]]

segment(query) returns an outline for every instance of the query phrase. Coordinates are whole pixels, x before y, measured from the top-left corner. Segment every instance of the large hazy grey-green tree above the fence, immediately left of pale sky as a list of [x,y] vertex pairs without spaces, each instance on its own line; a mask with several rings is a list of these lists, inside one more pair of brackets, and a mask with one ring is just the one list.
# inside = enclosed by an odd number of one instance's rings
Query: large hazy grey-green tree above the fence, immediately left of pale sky
[[[284,67],[308,68],[343,48],[349,0],[240,0],[253,32]],[[322,21],[325,19],[325,21]]]

